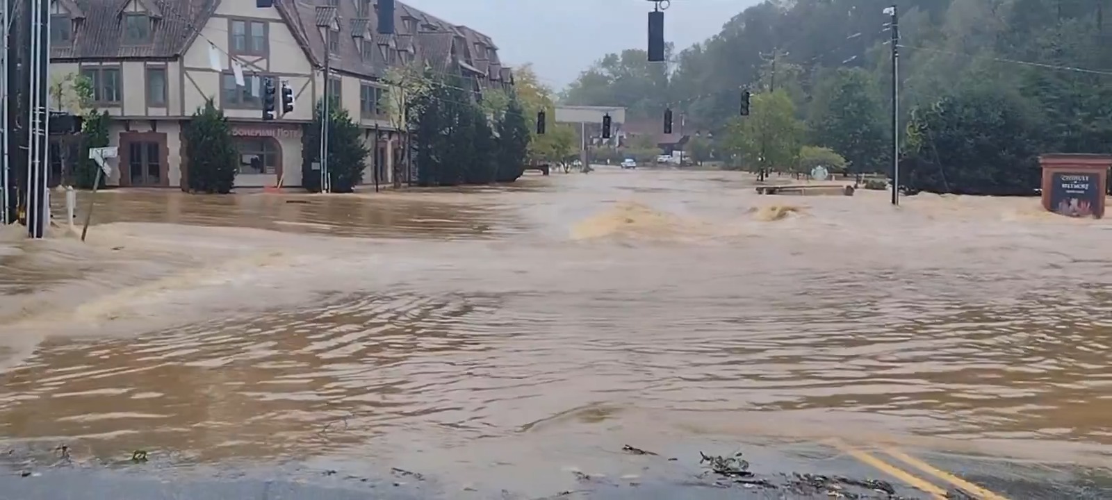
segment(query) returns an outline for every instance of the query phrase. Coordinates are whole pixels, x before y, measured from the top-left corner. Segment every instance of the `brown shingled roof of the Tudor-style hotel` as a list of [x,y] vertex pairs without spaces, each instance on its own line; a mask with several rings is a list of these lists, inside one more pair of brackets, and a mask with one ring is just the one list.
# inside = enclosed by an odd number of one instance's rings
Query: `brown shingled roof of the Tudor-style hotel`
[[[208,22],[221,2],[247,0],[57,1],[77,24],[72,43],[51,46],[51,59],[111,60],[176,59],[193,43],[198,29]],[[127,46],[122,42],[123,9],[131,1],[142,6],[155,19],[151,43]],[[373,4],[370,12],[360,11],[363,2],[359,0],[340,0],[337,6],[329,6],[328,0],[275,0],[275,8],[316,67],[324,66],[326,54],[325,37],[317,27],[322,19],[318,16],[330,20],[335,12],[340,29],[338,33],[334,32],[338,50],[331,56],[330,66],[335,71],[381,78],[390,61],[400,59],[390,52],[408,50],[434,72],[457,71],[454,61],[458,58],[480,72],[486,71],[488,80],[512,80],[506,78],[508,68],[500,67],[497,47],[490,37],[403,2],[395,4],[395,34],[381,36],[376,33],[378,1],[369,1]],[[365,42],[373,42],[373,46]],[[481,43],[485,54],[475,53],[478,51],[475,42]],[[386,54],[378,46],[387,46]],[[365,49],[374,50],[365,56]]]

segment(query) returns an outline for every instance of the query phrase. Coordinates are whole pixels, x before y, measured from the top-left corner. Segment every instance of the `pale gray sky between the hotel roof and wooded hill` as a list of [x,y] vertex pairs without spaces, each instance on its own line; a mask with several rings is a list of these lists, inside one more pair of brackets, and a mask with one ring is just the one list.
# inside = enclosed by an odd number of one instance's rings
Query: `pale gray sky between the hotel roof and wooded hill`
[[[503,61],[533,62],[542,82],[559,90],[607,52],[647,44],[646,0],[403,0],[433,16],[481,31]],[[717,33],[759,0],[674,0],[665,39],[683,49]]]

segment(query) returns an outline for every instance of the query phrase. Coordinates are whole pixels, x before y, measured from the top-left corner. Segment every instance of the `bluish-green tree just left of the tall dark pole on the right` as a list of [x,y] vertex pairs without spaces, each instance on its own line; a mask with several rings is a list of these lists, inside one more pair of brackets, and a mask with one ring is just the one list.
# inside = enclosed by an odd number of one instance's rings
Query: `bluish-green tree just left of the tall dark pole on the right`
[[815,89],[807,120],[811,142],[840,153],[853,172],[883,170],[888,133],[874,98],[880,94],[876,86],[860,69],[838,69],[825,74]]

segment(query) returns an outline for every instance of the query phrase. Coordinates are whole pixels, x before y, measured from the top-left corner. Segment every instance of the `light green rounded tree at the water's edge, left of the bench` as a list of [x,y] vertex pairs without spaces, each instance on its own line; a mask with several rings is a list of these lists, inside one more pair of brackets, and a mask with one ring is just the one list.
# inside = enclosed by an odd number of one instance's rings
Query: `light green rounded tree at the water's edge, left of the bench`
[[723,143],[742,166],[764,179],[772,170],[795,164],[802,126],[784,90],[754,94],[752,99],[751,114],[731,120]]

